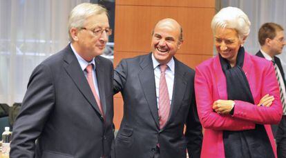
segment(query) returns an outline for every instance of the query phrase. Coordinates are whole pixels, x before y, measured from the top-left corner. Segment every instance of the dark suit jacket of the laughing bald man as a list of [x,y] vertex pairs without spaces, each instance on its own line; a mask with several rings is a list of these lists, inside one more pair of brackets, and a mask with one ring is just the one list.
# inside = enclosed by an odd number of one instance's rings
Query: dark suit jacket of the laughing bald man
[[[114,91],[122,92],[124,117],[115,139],[117,158],[160,156],[200,157],[202,126],[193,88],[195,72],[175,59],[175,78],[169,121],[159,128],[151,53],[123,59],[115,69]],[[187,130],[184,133],[184,125]]]

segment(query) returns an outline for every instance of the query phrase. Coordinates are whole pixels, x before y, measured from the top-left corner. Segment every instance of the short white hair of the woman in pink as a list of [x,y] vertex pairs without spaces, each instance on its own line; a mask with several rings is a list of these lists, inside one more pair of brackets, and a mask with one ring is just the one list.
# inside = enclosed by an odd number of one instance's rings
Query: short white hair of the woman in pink
[[238,32],[240,40],[245,39],[250,32],[250,21],[247,14],[240,8],[227,7],[222,8],[211,21],[211,30],[213,34],[218,28],[231,28]]

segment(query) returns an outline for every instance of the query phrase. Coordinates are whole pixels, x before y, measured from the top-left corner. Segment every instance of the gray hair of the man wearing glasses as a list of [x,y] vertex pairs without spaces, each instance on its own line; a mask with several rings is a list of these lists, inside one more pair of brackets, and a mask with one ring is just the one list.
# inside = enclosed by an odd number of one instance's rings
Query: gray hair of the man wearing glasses
[[82,28],[84,27],[84,21],[88,17],[94,14],[106,14],[108,16],[106,8],[93,3],[81,3],[70,12],[68,16],[68,39],[73,41],[73,37],[70,34],[70,28]]

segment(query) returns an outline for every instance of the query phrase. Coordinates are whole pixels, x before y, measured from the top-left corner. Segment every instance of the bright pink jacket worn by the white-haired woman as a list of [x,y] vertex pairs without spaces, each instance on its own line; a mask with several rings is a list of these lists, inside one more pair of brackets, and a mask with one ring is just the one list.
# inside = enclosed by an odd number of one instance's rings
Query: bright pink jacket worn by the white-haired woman
[[233,116],[213,112],[213,101],[227,100],[227,82],[218,55],[196,67],[195,90],[200,122],[205,128],[201,157],[225,157],[222,130],[249,130],[255,124],[265,124],[265,130],[276,155],[276,145],[269,124],[278,124],[282,117],[282,105],[274,66],[270,61],[248,55],[242,68],[245,71],[255,104],[264,95],[273,95],[270,107],[256,106],[236,100]]

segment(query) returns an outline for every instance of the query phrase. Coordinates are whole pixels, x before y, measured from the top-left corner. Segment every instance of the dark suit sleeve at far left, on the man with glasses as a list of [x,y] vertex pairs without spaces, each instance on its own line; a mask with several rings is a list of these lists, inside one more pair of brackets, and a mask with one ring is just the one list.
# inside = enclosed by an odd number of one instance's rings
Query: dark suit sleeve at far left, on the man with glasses
[[55,103],[53,75],[40,64],[32,72],[21,110],[13,126],[10,158],[35,157],[35,141],[41,135]]

